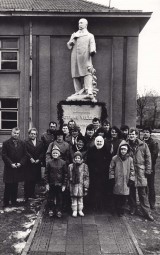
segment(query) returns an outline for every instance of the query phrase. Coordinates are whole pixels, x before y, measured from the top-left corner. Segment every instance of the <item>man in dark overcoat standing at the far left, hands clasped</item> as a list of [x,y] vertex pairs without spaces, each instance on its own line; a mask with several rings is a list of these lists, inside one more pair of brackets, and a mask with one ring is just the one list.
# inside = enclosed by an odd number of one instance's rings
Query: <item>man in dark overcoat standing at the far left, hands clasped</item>
[[9,202],[17,204],[18,183],[24,181],[24,166],[27,160],[26,146],[19,139],[20,129],[15,127],[11,131],[11,138],[3,143],[2,159],[4,161],[3,181],[5,183],[3,206]]

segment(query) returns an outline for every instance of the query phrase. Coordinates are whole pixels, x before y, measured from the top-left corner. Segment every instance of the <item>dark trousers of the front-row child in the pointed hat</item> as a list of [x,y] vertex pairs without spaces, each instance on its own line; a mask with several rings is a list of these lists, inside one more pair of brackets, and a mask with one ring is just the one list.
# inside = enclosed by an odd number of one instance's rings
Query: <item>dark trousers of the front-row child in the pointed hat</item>
[[62,187],[50,185],[47,204],[49,210],[56,212],[62,211]]

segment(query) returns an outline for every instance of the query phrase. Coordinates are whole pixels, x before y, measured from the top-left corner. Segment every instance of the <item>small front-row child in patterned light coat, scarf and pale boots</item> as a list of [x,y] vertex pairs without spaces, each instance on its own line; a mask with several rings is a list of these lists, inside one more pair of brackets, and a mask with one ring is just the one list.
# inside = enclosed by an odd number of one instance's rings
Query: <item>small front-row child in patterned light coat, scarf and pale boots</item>
[[68,166],[68,181],[73,212],[72,216],[77,217],[78,212],[83,217],[83,197],[87,195],[89,188],[89,171],[79,151],[74,153],[73,163]]

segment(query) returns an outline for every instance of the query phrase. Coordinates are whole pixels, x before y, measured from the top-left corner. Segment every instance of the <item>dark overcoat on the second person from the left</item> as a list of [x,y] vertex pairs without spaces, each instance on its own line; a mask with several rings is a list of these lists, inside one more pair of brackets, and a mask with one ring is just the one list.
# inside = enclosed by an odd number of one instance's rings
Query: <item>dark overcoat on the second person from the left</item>
[[[44,158],[45,148],[42,141],[36,140],[36,145],[29,139],[25,142],[27,150],[27,166],[25,170],[25,181],[40,181],[41,166]],[[39,159],[39,163],[31,163],[30,159]]]

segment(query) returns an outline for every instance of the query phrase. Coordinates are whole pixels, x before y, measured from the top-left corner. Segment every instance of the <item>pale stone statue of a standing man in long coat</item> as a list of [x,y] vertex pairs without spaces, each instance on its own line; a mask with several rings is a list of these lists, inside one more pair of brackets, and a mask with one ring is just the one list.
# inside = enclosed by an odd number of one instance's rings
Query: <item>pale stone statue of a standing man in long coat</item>
[[75,95],[82,93],[93,97],[93,84],[96,84],[92,56],[96,53],[94,35],[87,30],[88,21],[79,20],[79,30],[71,35],[67,46],[71,52],[71,74]]

